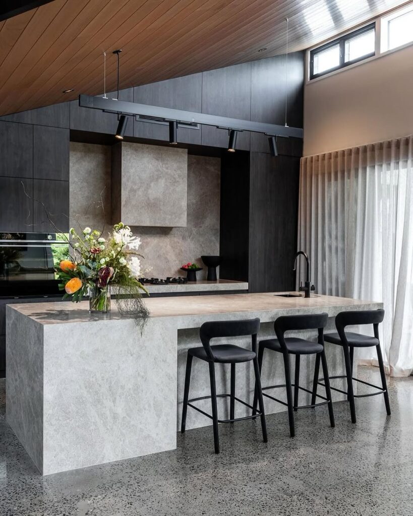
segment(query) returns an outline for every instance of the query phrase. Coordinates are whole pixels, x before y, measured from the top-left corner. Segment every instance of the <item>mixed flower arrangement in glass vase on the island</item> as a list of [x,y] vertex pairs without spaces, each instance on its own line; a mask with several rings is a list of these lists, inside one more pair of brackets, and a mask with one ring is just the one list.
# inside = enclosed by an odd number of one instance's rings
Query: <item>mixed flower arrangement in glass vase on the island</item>
[[140,239],[133,236],[129,226],[115,224],[107,240],[98,230],[85,228],[78,235],[70,229],[69,244],[73,250],[69,260],[62,260],[57,270],[65,289],[63,298],[81,301],[89,293],[91,312],[110,311],[110,285],[117,287],[118,309],[133,313],[137,321],[145,321],[148,309],[141,293],[148,293],[139,282],[140,260],[137,252]]

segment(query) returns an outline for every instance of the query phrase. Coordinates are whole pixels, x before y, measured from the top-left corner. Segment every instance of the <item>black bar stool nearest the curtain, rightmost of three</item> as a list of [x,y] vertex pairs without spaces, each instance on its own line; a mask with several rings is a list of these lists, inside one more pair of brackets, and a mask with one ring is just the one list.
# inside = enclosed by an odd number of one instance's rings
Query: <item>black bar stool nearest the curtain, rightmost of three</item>
[[[366,398],[368,396],[377,396],[378,394],[384,395],[384,402],[386,405],[387,414],[390,415],[390,403],[389,403],[389,394],[387,392],[387,383],[386,383],[386,374],[384,372],[384,364],[383,364],[383,356],[382,350],[380,349],[380,341],[378,339],[378,325],[380,322],[383,322],[384,319],[384,310],[363,310],[363,311],[353,311],[353,312],[340,312],[336,317],[336,328],[337,333],[327,333],[324,336],[324,340],[326,342],[331,342],[332,344],[338,344],[343,348],[344,352],[344,364],[345,364],[345,375],[339,376],[330,376],[329,379],[333,378],[346,378],[347,379],[347,392],[342,391],[341,389],[336,389],[335,387],[331,387],[333,391],[341,392],[342,394],[347,395],[348,401],[350,401],[350,414],[352,417],[352,423],[356,423],[356,406],[354,404],[354,398]],[[374,337],[368,335],[362,335],[360,333],[352,333],[350,331],[346,332],[346,326],[359,326],[359,325],[373,325]],[[373,385],[372,383],[365,382],[363,380],[359,380],[358,378],[353,377],[353,359],[354,359],[354,348],[367,348],[367,347],[376,347],[377,351],[377,360],[378,366],[380,369],[380,377],[382,378],[382,386]],[[315,362],[315,374],[314,374],[314,383],[315,383],[315,393],[317,392],[317,384],[324,385],[322,382],[325,381],[326,375],[324,374],[324,378],[318,378],[319,376],[319,367],[320,367],[320,359],[317,357]],[[369,385],[374,389],[377,389],[378,392],[373,392],[369,394],[354,394],[353,390],[353,380],[359,383],[364,383],[364,385]]]

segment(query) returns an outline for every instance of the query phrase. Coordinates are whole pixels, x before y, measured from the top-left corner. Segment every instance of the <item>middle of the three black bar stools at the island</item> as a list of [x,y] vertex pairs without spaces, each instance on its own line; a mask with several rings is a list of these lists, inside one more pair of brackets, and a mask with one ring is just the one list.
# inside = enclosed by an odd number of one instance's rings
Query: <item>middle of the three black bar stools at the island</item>
[[[271,351],[278,351],[282,353],[284,359],[284,370],[285,370],[285,383],[281,385],[271,385],[268,387],[263,387],[262,391],[266,391],[268,389],[275,389],[278,387],[285,387],[287,390],[287,403],[281,401],[280,399],[274,398],[269,394],[262,393],[263,396],[267,398],[274,399],[279,403],[286,405],[288,407],[288,418],[290,422],[290,435],[291,437],[295,436],[295,426],[294,426],[294,411],[297,409],[305,409],[309,407],[316,407],[319,405],[328,405],[328,413],[330,416],[330,425],[333,428],[335,426],[334,423],[334,414],[332,410],[332,402],[331,402],[331,392],[328,379],[325,382],[325,390],[326,397],[320,396],[319,394],[314,394],[314,389],[316,389],[316,384],[313,383],[313,390],[310,391],[305,389],[304,387],[300,387],[299,385],[299,375],[300,375],[300,357],[302,354],[316,354],[318,360],[321,359],[323,364],[323,370],[326,377],[328,377],[328,369],[327,369],[327,361],[324,352],[324,338],[323,338],[323,329],[327,324],[328,314],[315,314],[315,315],[287,315],[278,317],[274,322],[274,330],[277,335],[277,338],[273,338],[267,341],[260,341],[259,350],[258,350],[258,364],[260,368],[262,368],[262,359],[264,354],[264,349],[268,349]],[[317,342],[307,341],[304,338],[297,337],[284,337],[284,333],[286,331],[291,330],[310,330],[317,329],[319,332]],[[290,377],[290,354],[295,355],[295,378],[294,383],[291,383]],[[294,387],[294,401],[292,397],[291,387]],[[322,398],[324,401],[319,403],[315,403],[315,399],[311,401],[311,405],[298,405],[298,391],[305,391],[309,394],[313,395],[313,398],[316,396],[318,398]],[[253,406],[257,407],[257,393],[254,396]]]

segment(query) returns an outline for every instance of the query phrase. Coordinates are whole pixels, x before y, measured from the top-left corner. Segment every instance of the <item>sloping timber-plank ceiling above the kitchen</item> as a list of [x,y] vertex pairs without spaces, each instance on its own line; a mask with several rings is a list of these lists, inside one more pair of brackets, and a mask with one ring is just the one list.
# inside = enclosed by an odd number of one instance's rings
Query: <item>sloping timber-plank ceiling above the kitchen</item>
[[[0,22],[0,115],[303,50],[398,0],[54,0]],[[259,52],[260,49],[266,50]],[[63,90],[74,88],[72,93]]]

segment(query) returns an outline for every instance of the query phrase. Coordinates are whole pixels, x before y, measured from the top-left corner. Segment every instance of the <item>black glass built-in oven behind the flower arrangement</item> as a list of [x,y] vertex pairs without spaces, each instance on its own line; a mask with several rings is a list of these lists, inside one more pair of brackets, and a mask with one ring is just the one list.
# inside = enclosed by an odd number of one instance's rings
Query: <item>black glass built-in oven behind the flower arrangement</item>
[[0,233],[0,297],[59,295],[55,268],[69,257],[68,235]]

